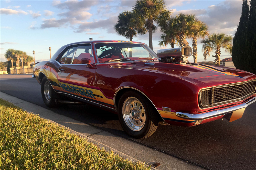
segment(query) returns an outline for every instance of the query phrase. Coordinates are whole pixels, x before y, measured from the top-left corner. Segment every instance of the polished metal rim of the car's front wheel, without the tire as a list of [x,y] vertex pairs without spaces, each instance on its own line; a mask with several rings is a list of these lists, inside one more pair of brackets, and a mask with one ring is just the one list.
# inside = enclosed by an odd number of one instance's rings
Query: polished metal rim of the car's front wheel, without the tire
[[141,130],[146,122],[145,109],[135,97],[128,97],[123,104],[123,118],[126,125],[133,131]]

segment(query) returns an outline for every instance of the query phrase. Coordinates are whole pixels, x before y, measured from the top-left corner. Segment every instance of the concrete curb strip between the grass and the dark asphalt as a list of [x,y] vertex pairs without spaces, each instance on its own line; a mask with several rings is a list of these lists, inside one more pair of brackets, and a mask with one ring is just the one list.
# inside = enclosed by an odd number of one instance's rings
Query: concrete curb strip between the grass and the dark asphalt
[[119,154],[121,157],[125,159],[130,159],[134,162],[138,162],[138,160],[140,160],[141,162],[145,162],[148,165],[158,162],[161,165],[156,167],[156,169],[159,170],[203,169],[201,167],[187,163],[173,156],[164,154],[162,152],[146,147],[139,143],[133,142],[131,140],[113,135],[94,126],[55,113],[51,110],[45,109],[33,103],[29,103],[25,100],[21,100],[14,96],[10,96],[3,92],[0,92],[0,97],[4,100],[16,104],[17,106],[23,108],[28,112],[33,112],[34,114],[38,114],[41,117],[48,119],[49,121],[52,121],[54,123],[56,122],[59,125],[68,127],[72,133],[76,133],[81,137],[88,138],[90,142],[97,144],[101,148],[104,147],[104,149],[107,151],[113,150],[115,153]]

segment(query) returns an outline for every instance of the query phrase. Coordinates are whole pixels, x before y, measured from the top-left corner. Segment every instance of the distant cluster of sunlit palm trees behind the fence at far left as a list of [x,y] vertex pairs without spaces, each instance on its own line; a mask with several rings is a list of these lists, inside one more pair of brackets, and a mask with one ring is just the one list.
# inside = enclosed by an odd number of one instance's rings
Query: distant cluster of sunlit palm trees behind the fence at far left
[[21,50],[15,50],[15,49],[7,49],[5,54],[5,58],[8,60],[8,66],[7,68],[9,69],[10,67],[21,67],[23,68],[24,66],[31,66],[31,63],[34,62],[34,58],[30,55],[27,55],[26,52],[21,51]]

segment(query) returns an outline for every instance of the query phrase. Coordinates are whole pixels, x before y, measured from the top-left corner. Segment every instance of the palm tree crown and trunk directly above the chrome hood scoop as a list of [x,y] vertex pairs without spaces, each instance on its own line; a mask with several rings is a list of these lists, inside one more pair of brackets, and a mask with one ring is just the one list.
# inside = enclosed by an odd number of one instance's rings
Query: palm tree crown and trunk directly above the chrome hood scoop
[[189,33],[198,24],[196,15],[179,13],[179,15],[172,17],[168,21],[167,27],[177,34],[179,37],[179,46],[182,47],[188,45],[186,39],[191,36]]

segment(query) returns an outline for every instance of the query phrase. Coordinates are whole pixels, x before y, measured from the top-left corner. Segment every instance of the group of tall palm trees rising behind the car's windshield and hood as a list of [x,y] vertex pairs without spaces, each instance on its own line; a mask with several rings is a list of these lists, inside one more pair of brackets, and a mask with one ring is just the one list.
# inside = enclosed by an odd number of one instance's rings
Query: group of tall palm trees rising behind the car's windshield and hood
[[162,32],[159,46],[168,44],[174,48],[188,46],[187,38],[192,39],[194,63],[197,63],[197,39],[202,38],[202,51],[206,60],[212,52],[216,59],[215,64],[220,66],[221,49],[231,54],[232,36],[224,33],[209,34],[208,25],[196,18],[195,14],[179,13],[172,16],[172,10],[166,8],[162,0],[136,1],[131,11],[123,11],[118,15],[118,22],[114,25],[115,31],[130,41],[137,34],[149,36],[149,47],[153,50],[152,34],[157,29]]

